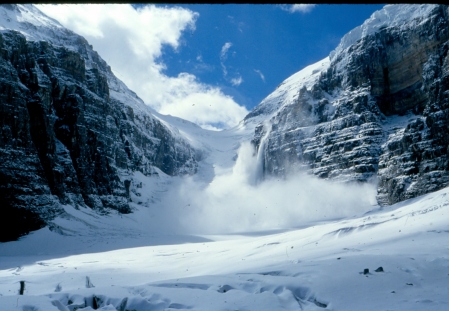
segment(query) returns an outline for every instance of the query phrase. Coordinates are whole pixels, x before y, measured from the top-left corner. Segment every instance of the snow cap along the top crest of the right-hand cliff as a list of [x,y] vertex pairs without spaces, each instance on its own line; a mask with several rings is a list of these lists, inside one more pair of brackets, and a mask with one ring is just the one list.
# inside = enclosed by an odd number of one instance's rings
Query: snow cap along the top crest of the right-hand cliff
[[340,41],[337,48],[329,55],[333,60],[346,48],[358,40],[387,27],[407,27],[419,24],[429,18],[436,4],[390,4],[374,12],[361,26],[348,32]]

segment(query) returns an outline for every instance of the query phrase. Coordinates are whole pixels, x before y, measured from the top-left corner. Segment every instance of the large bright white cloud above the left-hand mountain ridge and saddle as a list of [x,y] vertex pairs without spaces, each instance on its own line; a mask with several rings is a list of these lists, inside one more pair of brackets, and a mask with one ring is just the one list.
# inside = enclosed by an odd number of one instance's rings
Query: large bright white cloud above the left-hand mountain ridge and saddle
[[201,83],[191,74],[168,77],[162,73],[162,47],[178,49],[183,32],[195,29],[198,13],[155,5],[136,10],[130,4],[37,7],[84,36],[114,74],[157,111],[209,128],[234,126],[248,113],[219,88]]

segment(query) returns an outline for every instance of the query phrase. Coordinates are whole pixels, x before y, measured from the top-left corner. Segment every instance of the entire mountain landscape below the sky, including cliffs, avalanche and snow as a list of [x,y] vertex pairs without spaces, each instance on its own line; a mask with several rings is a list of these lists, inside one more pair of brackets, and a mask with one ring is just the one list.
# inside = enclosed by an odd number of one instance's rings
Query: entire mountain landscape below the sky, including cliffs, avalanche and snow
[[386,6],[214,132],[0,6],[0,311],[447,309],[447,13]]

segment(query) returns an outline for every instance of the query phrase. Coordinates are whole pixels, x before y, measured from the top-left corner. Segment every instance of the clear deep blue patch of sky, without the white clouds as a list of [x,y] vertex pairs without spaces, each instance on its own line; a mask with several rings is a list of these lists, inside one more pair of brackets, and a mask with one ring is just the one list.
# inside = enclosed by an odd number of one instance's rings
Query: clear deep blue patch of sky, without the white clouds
[[328,56],[343,35],[383,5],[316,5],[308,12],[278,5],[180,6],[199,17],[176,51],[164,48],[164,72],[190,72],[250,110],[290,75]]

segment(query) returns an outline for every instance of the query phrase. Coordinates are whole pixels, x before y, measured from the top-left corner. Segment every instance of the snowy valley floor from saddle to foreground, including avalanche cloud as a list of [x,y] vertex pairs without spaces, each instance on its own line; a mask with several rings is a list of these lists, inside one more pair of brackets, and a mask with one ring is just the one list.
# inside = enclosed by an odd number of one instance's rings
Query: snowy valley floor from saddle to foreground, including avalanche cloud
[[0,311],[448,310],[449,188],[380,208],[364,188],[251,184],[247,133],[191,129],[209,155],[189,182],[135,173],[133,213],[65,206],[0,244]]

